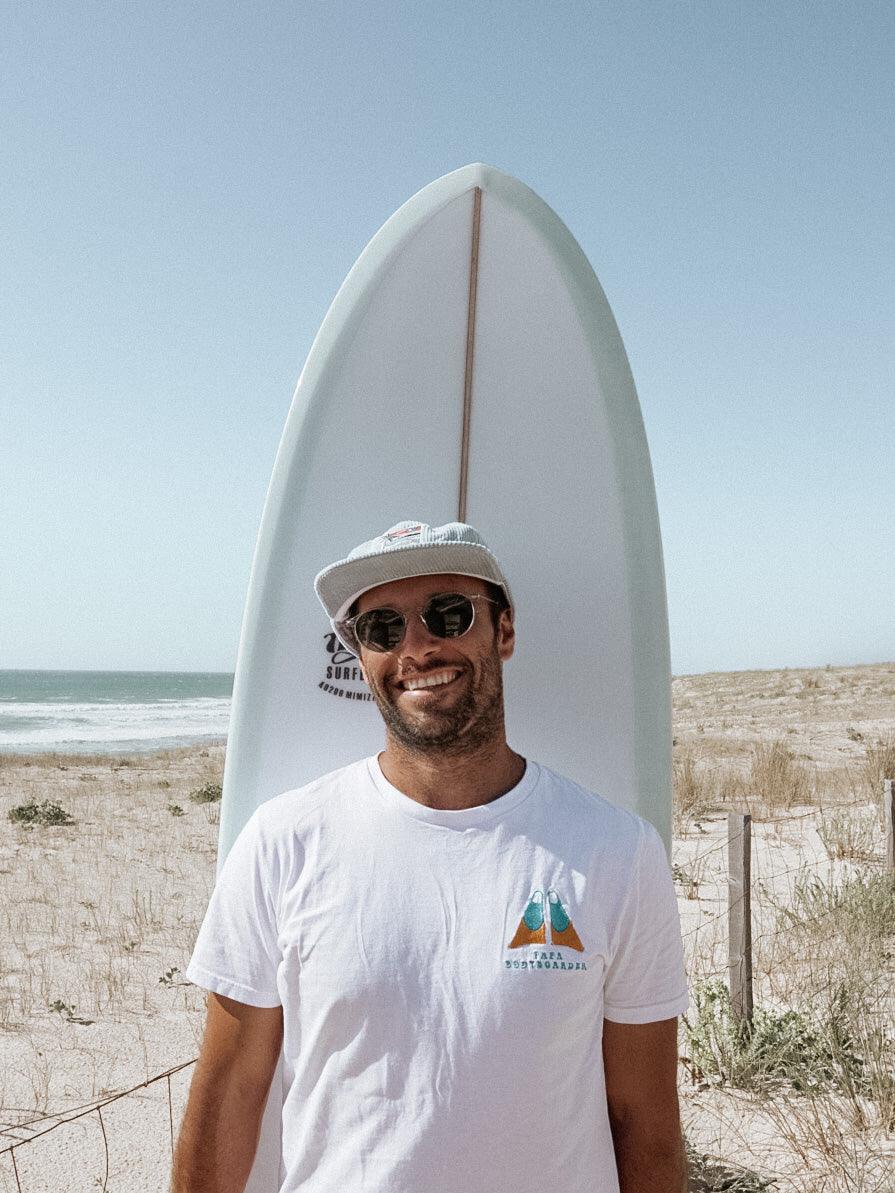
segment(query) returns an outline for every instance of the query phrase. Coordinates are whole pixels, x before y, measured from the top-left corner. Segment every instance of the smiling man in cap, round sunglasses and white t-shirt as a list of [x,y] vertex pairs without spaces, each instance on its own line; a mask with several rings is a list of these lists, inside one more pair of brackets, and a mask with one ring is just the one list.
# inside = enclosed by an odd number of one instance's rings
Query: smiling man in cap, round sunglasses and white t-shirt
[[385,749],[265,803],[227,858],[174,1193],[241,1193],[280,1045],[284,1193],[680,1193],[665,851],[507,744],[496,558],[400,523],[315,587]]

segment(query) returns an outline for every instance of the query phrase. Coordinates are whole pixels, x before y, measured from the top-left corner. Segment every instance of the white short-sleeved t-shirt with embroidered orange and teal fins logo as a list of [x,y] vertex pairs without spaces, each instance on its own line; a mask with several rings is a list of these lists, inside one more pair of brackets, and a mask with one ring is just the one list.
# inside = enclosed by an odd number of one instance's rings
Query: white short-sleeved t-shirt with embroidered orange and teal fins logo
[[617,1193],[603,1018],[687,1007],[655,829],[529,762],[438,811],[376,758],[263,804],[186,976],[282,1003],[282,1193]]

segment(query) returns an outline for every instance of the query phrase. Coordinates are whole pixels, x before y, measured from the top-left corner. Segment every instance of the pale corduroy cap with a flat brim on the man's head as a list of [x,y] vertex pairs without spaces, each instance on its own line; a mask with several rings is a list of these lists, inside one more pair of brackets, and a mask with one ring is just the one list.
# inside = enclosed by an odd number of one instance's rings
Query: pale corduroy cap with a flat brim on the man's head
[[314,591],[333,629],[338,630],[337,623],[347,617],[351,606],[368,588],[442,571],[477,576],[498,585],[513,610],[510,585],[496,556],[479,531],[465,523],[427,526],[426,523],[400,521],[317,573]]

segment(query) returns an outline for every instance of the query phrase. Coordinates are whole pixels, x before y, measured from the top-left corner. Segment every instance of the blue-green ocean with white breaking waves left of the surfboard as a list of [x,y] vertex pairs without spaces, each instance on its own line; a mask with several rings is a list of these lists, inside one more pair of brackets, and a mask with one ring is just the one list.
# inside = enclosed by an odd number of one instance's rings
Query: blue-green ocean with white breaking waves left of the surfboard
[[122,754],[222,741],[233,675],[0,670],[0,753]]

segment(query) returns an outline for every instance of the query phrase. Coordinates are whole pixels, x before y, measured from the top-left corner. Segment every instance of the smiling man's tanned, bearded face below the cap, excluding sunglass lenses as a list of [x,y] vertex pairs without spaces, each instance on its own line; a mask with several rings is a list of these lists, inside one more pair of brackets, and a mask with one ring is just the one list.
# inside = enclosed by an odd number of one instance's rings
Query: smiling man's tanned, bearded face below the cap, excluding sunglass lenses
[[[486,596],[488,587],[474,576],[414,576],[371,588],[356,610],[365,613],[384,606],[406,617],[405,636],[395,650],[382,654],[364,647],[360,666],[389,736],[422,753],[474,752],[504,733],[501,666],[514,643],[510,611],[501,612],[495,629],[493,606],[476,600],[467,633],[437,638],[419,610],[446,592]],[[422,679],[432,686],[419,686]]]

